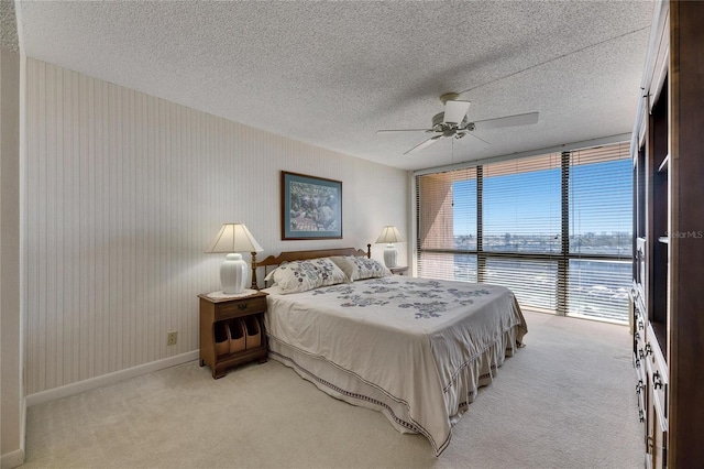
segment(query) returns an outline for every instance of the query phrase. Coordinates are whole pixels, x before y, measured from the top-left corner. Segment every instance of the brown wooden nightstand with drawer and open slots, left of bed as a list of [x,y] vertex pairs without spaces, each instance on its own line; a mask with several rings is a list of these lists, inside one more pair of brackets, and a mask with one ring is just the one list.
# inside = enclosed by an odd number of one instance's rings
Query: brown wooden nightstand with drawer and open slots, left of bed
[[[212,378],[224,377],[224,371],[230,367],[257,359],[260,363],[267,360],[264,334],[266,295],[263,292],[232,298],[198,295],[200,298],[200,366],[208,364],[212,370]],[[240,328],[238,330],[242,332],[238,336],[238,340],[232,340],[232,348],[229,340],[230,329],[228,328],[230,327],[233,331]],[[256,334],[257,330],[258,334]]]

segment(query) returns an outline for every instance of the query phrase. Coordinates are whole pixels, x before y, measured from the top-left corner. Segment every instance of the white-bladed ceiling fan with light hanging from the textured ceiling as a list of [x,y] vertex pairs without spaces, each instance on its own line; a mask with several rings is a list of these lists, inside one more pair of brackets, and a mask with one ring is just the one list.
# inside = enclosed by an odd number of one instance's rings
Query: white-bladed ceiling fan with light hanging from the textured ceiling
[[528,112],[525,114],[506,116],[496,119],[477,120],[474,122],[468,121],[466,111],[470,109],[470,101],[458,99],[460,97],[457,92],[447,92],[440,97],[440,100],[444,105],[444,111],[439,112],[432,117],[432,127],[430,129],[391,129],[391,130],[377,130],[376,133],[386,132],[427,132],[433,133],[429,139],[418,143],[413,149],[408,150],[404,154],[413,153],[425,149],[426,146],[437,142],[440,139],[447,137],[454,137],[461,139],[464,135],[471,134],[475,139],[482,140],[484,143],[488,143],[486,140],[479,138],[470,132],[480,129],[497,129],[501,127],[514,127],[514,126],[527,126],[538,122],[538,112]]

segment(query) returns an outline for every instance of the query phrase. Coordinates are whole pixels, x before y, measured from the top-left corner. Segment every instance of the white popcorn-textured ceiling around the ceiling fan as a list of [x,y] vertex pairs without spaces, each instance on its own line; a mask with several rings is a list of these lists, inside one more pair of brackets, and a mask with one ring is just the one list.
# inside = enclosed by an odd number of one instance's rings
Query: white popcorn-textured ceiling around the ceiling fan
[[[400,168],[630,132],[652,1],[18,1],[34,58],[237,122]],[[472,121],[428,135],[439,96]],[[454,141],[454,145],[452,142]]]

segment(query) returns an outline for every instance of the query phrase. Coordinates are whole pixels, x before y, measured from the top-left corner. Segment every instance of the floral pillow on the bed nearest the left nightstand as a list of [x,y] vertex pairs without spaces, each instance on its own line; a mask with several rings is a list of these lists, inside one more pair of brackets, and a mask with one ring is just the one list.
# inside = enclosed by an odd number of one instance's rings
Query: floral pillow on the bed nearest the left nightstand
[[280,264],[265,280],[273,280],[284,293],[297,293],[343,283],[346,282],[346,276],[334,262],[320,258]]

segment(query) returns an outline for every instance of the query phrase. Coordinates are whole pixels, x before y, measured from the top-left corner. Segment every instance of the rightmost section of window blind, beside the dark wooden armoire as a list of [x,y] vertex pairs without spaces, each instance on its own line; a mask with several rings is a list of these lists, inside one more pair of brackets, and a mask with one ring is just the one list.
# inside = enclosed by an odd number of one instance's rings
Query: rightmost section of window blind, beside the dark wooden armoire
[[[628,310],[632,276],[629,145],[623,143],[572,152],[569,192],[566,313],[622,321],[624,312]],[[598,257],[602,259],[596,259]]]

